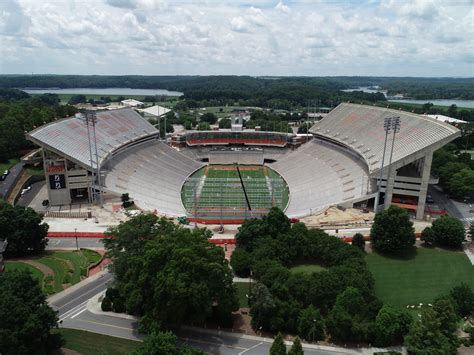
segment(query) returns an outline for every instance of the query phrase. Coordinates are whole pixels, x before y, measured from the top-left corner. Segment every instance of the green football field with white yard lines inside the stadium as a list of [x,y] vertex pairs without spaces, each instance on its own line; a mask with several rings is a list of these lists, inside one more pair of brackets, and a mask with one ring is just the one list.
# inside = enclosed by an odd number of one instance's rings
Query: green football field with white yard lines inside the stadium
[[[190,217],[245,219],[277,206],[285,209],[289,190],[283,178],[266,166],[208,165],[195,172],[181,192]],[[247,193],[250,210],[248,208]]]

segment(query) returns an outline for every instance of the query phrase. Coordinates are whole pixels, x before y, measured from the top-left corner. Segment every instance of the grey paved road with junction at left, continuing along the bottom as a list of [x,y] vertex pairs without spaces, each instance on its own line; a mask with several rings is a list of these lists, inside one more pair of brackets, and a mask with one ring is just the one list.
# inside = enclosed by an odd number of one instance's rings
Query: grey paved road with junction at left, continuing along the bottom
[[[138,323],[133,319],[117,318],[105,315],[97,315],[87,310],[87,302],[90,298],[103,292],[112,281],[112,274],[104,274],[98,279],[84,284],[65,297],[50,302],[51,306],[58,311],[60,327],[82,329],[90,332],[122,337],[132,340],[143,339],[138,333]],[[236,337],[228,333],[208,332],[199,329],[186,329],[178,332],[178,337],[183,343],[200,348],[211,354],[223,355],[267,355],[270,351],[270,342],[260,339],[247,339]],[[308,355],[334,355],[344,354],[337,349],[319,350],[305,348]],[[347,352],[353,353],[353,352]]]

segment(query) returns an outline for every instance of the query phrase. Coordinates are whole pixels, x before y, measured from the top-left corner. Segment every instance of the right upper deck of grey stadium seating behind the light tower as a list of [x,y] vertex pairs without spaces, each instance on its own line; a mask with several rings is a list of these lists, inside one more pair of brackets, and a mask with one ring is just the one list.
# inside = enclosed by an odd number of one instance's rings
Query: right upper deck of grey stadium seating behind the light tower
[[[460,131],[448,123],[410,112],[383,107],[342,103],[311,127],[316,136],[344,145],[357,152],[373,175],[380,170],[385,140],[384,118],[400,117],[392,164],[403,166],[421,158],[427,151],[438,149],[460,136]],[[390,152],[393,133],[389,135]],[[423,153],[423,154],[420,154]],[[386,155],[384,167],[389,165]]]

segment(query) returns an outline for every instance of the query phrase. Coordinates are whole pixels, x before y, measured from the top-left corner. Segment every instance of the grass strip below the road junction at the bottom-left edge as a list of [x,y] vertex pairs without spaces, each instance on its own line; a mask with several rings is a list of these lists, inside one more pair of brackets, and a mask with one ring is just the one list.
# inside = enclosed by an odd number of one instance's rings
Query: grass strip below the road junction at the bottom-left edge
[[66,340],[64,348],[87,355],[128,354],[137,349],[141,342],[111,337],[75,329],[57,329]]

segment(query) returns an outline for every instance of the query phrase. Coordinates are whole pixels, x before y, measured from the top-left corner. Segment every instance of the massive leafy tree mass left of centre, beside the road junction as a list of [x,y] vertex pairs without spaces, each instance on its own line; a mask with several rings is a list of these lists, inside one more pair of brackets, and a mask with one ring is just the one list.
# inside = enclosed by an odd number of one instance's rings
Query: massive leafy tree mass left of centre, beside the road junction
[[116,288],[144,331],[228,321],[238,307],[232,274],[210,232],[190,230],[144,214],[111,228],[104,244]]

